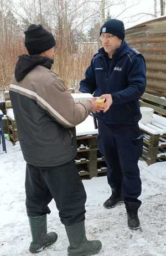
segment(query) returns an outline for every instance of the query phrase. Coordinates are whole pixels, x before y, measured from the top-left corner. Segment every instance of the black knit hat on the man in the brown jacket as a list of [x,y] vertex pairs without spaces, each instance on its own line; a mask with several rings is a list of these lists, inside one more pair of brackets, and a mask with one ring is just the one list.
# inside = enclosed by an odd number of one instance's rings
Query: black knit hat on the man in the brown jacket
[[43,53],[56,44],[53,34],[44,29],[42,25],[32,24],[25,34],[25,47],[29,54]]

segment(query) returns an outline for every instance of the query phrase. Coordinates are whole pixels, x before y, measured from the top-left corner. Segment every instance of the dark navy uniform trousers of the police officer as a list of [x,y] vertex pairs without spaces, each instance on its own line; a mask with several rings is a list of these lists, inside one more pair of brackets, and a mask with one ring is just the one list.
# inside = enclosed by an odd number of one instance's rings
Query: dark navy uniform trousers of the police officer
[[125,202],[140,202],[138,158],[143,139],[138,124],[111,125],[98,121],[98,149],[107,163],[108,184],[120,188]]

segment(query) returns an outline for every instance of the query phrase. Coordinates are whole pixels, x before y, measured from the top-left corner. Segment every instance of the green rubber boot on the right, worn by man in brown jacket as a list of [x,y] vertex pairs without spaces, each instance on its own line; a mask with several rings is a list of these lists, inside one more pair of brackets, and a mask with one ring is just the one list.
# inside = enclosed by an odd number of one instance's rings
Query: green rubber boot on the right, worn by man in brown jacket
[[89,256],[100,251],[102,244],[99,240],[87,240],[85,234],[85,221],[71,226],[65,226],[70,246],[69,256]]

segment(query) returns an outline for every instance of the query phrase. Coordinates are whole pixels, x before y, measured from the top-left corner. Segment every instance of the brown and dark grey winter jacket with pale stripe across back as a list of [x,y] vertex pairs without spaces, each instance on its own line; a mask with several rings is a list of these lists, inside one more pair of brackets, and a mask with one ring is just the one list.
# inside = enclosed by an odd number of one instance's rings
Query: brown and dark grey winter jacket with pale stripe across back
[[13,76],[9,94],[25,161],[40,167],[71,161],[75,126],[91,112],[90,101],[75,104],[63,80],[42,65],[17,80]]

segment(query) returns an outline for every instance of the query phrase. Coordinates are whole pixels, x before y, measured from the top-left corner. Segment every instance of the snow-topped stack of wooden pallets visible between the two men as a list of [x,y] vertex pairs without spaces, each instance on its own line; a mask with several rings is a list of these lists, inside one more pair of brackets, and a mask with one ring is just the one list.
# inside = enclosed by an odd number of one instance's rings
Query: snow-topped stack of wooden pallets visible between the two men
[[94,119],[88,116],[76,126],[77,155],[75,163],[82,178],[92,178],[106,174],[106,162],[97,148],[97,134]]

